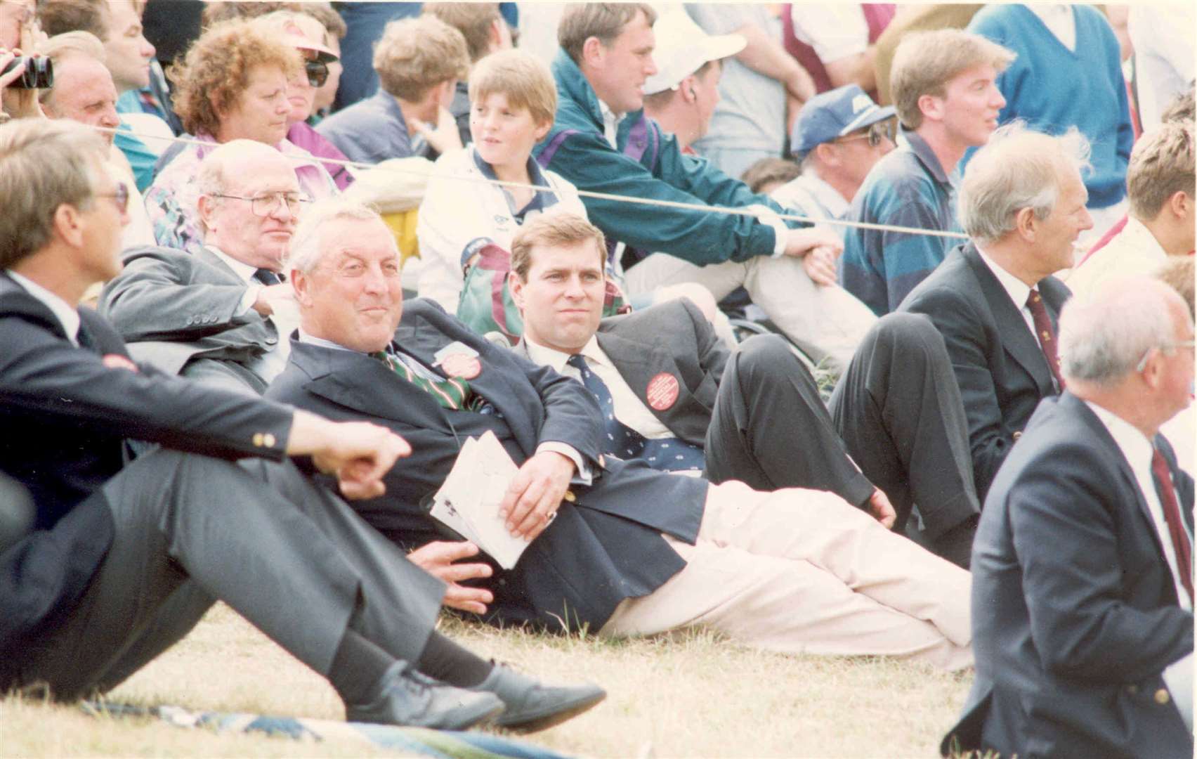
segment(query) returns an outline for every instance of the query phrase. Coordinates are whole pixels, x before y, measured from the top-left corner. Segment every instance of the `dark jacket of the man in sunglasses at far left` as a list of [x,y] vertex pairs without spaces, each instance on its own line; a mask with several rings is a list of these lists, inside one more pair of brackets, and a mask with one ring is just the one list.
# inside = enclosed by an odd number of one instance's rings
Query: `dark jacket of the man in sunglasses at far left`
[[278,403],[152,366],[110,368],[113,357],[127,360],[121,338],[95,311],[79,314],[92,350],[74,347],[57,318],[0,272],[0,469],[36,504],[35,532],[0,554],[0,661],[69,609],[103,560],[113,524],[99,488],[123,466],[124,438],[281,459],[291,429],[292,412]]

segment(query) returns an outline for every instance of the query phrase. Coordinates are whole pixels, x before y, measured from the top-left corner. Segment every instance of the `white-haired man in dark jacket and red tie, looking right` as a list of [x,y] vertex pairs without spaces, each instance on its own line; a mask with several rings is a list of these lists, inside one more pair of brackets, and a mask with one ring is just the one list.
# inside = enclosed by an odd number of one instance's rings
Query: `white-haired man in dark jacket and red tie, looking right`
[[899,308],[930,317],[948,346],[982,502],[1040,399],[1061,390],[1056,317],[1069,291],[1052,274],[1073,265],[1073,244],[1093,226],[1080,175],[1087,150],[1075,130],[995,132],[960,187],[971,242]]

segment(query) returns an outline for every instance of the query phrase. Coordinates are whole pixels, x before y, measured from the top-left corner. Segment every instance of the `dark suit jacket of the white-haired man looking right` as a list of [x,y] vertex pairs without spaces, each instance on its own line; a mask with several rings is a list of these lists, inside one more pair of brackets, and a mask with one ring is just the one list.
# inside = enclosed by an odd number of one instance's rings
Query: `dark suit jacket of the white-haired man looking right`
[[[1071,293],[1055,277],[1038,287],[1055,324]],[[1056,394],[1047,359],[1020,308],[971,242],[952,250],[898,308],[925,314],[943,335],[965,403],[982,500],[1039,400]]]

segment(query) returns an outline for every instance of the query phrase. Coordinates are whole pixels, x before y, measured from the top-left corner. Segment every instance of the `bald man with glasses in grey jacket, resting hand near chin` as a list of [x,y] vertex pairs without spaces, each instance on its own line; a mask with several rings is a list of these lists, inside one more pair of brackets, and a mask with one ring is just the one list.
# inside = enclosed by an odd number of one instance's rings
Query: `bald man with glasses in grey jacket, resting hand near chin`
[[139,360],[261,394],[298,324],[279,272],[308,198],[291,162],[253,140],[213,150],[198,182],[203,247],[127,250],[99,308]]

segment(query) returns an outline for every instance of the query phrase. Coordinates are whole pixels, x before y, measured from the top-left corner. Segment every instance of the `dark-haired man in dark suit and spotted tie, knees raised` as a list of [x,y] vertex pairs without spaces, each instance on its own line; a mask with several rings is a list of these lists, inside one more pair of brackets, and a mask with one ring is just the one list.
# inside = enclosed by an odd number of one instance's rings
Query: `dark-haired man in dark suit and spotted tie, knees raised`
[[[584,283],[601,261],[584,250],[576,257],[567,245],[534,247],[533,237],[512,244],[509,284],[524,317],[516,350],[583,382],[601,403],[612,399],[606,453],[666,470],[703,469],[705,461],[711,481],[755,490],[827,490],[886,527],[897,518],[899,530],[916,500],[924,515],[955,500],[979,510],[962,405],[943,341],[925,318],[895,316],[867,333],[834,394],[833,420],[782,339],[751,338],[731,352],[685,299],[600,321],[602,303],[560,274],[577,271]],[[576,328],[578,311],[589,312],[584,329]],[[624,429],[644,438],[643,450],[627,450]],[[971,542],[959,555],[935,547],[967,565]]]

